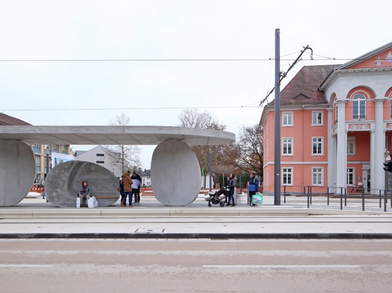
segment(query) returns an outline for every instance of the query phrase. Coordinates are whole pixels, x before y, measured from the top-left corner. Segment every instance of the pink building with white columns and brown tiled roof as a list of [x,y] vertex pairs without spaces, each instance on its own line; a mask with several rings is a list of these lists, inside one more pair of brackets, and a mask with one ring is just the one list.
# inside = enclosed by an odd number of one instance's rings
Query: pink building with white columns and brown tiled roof
[[[281,191],[383,191],[391,99],[392,43],[343,65],[301,68],[281,92]],[[272,101],[260,121],[266,195],[274,194],[274,114]]]

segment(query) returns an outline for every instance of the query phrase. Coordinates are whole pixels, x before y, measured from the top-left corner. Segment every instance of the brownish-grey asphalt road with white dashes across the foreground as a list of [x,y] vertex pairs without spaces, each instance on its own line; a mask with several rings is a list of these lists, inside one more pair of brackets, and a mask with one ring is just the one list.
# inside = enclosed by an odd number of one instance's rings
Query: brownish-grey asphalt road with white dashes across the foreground
[[6,239],[2,293],[391,292],[391,240]]

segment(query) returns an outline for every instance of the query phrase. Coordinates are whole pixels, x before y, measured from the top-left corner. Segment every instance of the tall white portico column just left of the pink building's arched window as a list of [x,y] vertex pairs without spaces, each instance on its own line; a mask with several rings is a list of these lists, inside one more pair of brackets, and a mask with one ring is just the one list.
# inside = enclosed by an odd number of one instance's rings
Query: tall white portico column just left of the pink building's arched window
[[337,149],[336,149],[336,187],[346,188],[347,174],[347,132],[346,101],[336,102],[338,107]]

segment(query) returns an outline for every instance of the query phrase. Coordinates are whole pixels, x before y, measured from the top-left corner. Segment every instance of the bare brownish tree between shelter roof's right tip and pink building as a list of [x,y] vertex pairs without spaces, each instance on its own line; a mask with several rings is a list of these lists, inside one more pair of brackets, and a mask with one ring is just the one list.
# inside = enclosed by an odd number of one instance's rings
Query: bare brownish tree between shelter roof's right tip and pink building
[[264,129],[259,124],[251,127],[242,127],[235,144],[237,160],[235,164],[238,169],[251,172],[262,178],[263,176],[263,147]]

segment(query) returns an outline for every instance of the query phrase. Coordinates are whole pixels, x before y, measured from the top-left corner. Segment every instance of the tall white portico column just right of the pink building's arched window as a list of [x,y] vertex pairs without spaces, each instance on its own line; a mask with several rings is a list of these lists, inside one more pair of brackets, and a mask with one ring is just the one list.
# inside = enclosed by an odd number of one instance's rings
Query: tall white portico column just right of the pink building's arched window
[[375,122],[374,129],[371,132],[371,190],[372,193],[377,193],[378,190],[385,188],[383,162],[385,147],[385,129],[383,124],[383,102],[385,98],[374,99],[375,108]]

